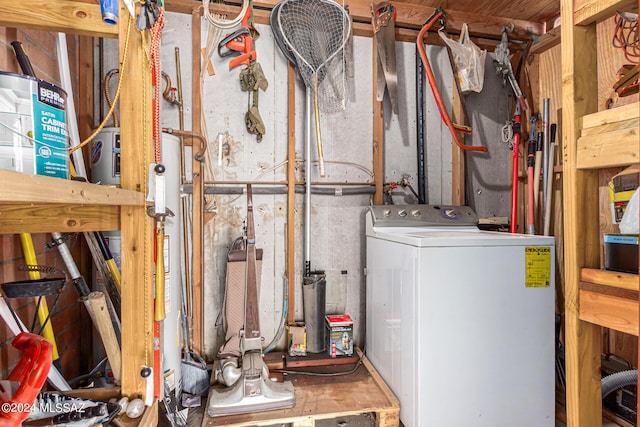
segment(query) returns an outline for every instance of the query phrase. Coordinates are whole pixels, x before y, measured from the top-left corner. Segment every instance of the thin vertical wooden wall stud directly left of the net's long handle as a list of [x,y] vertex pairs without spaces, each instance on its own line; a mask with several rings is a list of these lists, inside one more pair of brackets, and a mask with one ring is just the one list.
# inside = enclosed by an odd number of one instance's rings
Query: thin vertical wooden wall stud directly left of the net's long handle
[[287,63],[287,323],[295,321],[296,284],[296,68]]

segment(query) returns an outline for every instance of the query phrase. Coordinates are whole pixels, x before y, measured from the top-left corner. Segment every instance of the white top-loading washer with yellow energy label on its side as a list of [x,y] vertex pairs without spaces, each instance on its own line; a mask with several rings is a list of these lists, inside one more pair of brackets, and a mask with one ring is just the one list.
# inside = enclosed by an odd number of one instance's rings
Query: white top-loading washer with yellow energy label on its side
[[372,206],[366,355],[406,427],[555,425],[553,237],[467,207]]

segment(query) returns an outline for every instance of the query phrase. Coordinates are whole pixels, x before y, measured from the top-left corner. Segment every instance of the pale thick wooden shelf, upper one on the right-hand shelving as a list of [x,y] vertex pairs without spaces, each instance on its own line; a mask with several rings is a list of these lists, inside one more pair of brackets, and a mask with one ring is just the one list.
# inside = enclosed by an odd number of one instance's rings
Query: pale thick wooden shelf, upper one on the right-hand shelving
[[640,161],[640,104],[634,103],[582,117],[576,167],[629,166]]

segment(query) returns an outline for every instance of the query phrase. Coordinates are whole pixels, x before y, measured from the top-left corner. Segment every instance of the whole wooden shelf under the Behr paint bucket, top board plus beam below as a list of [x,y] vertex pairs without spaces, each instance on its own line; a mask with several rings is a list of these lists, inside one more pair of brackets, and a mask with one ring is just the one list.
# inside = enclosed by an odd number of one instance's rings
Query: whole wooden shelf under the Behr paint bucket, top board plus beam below
[[0,170],[0,233],[83,232],[120,228],[121,206],[143,206],[144,196],[106,187]]

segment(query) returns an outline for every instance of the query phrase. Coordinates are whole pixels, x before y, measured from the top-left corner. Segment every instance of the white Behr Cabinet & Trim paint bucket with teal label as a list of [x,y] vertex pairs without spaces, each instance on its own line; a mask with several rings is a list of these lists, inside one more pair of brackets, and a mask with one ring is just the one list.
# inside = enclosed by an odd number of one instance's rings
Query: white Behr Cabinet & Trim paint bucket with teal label
[[0,169],[69,178],[69,140],[61,88],[0,71]]

